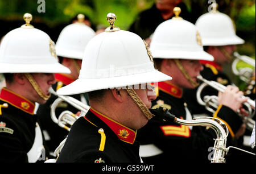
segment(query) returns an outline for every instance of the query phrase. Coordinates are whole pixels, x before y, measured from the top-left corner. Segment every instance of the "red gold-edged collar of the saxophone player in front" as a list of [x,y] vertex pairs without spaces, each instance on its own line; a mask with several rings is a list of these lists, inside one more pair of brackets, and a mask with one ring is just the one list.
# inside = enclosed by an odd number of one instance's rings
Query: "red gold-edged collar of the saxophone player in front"
[[137,130],[134,131],[126,126],[121,125],[113,119],[108,118],[106,115],[103,115],[98,111],[92,109],[92,107],[90,107],[90,111],[98,118],[100,118],[104,123],[106,123],[106,125],[108,125],[110,129],[112,129],[112,131],[114,131],[115,135],[117,135],[120,140],[130,144],[134,143]]

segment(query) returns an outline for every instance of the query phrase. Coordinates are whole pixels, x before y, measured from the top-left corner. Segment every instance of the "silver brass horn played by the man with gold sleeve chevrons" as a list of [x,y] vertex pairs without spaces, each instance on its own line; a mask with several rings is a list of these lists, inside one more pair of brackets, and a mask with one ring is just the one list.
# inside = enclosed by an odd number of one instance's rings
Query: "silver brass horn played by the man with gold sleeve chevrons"
[[[220,91],[225,92],[226,86],[216,82],[216,81],[208,81],[202,76],[197,76],[197,79],[203,81],[203,83],[199,86],[196,92],[196,98],[197,102],[200,105],[205,106],[205,109],[208,111],[215,113],[217,107],[218,107],[218,97],[217,96],[204,96],[204,98],[201,98],[201,92],[206,86],[211,86],[212,88]],[[242,96],[245,97],[245,96]],[[251,100],[250,98],[247,99],[245,103],[243,103],[243,106],[245,106],[245,109],[248,113],[247,116],[242,115],[240,111],[238,111],[238,114],[243,118],[243,122],[246,123],[246,128],[249,130],[253,130],[255,121],[252,119],[255,114],[255,102]]]

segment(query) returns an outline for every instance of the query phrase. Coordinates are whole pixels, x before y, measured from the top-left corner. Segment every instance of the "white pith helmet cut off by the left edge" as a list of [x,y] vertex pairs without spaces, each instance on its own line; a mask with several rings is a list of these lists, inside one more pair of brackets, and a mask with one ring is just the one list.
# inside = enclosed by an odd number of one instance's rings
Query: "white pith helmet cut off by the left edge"
[[8,32],[0,45],[0,73],[70,73],[58,63],[54,42],[24,14],[26,24]]

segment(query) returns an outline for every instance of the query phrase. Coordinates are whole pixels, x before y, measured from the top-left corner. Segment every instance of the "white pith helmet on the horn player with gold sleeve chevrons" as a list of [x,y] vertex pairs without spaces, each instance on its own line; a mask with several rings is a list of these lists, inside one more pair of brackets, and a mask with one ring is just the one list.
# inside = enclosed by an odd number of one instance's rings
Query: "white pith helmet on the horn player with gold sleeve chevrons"
[[213,61],[213,56],[203,50],[196,26],[179,16],[180,8],[175,7],[175,17],[159,24],[150,43],[154,59],[191,59]]

